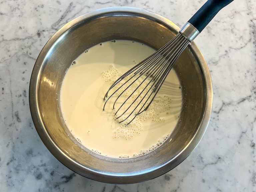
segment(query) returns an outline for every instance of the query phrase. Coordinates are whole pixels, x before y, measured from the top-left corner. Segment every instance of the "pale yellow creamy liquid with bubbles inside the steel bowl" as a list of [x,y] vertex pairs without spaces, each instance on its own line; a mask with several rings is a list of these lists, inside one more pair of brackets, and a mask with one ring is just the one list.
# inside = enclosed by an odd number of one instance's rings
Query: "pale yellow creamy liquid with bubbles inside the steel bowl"
[[61,111],[67,127],[85,147],[108,157],[136,157],[161,146],[171,134],[182,102],[180,82],[174,70],[150,108],[127,127],[114,120],[111,101],[102,110],[110,80],[153,52],[154,49],[138,42],[104,42],[81,54],[67,70],[61,87]]

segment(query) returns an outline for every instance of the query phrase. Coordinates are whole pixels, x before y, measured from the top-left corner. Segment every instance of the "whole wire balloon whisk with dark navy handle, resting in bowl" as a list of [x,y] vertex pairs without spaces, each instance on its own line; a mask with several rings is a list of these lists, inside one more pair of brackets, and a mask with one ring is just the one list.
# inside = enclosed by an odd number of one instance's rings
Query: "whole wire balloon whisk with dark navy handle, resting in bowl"
[[[172,40],[124,73],[110,86],[104,97],[105,104],[103,110],[109,99],[113,95],[117,95],[113,104],[113,109],[115,109],[117,101],[132,87],[135,88],[132,89],[130,95],[115,111],[115,115],[119,113],[116,119],[120,119],[119,123],[125,122],[128,125],[137,115],[147,110],[183,50],[206,27],[212,18],[232,1],[208,0]],[[110,90],[114,90],[114,92],[106,100]],[[122,109],[120,113],[120,109],[128,101],[131,104],[129,103],[129,106]]]

